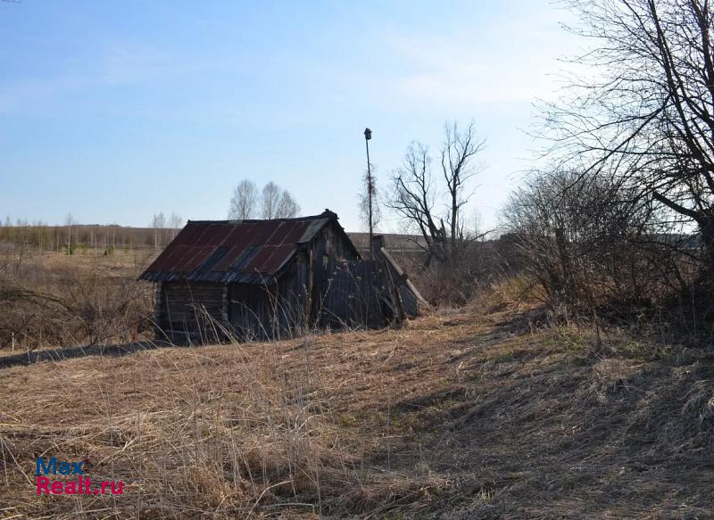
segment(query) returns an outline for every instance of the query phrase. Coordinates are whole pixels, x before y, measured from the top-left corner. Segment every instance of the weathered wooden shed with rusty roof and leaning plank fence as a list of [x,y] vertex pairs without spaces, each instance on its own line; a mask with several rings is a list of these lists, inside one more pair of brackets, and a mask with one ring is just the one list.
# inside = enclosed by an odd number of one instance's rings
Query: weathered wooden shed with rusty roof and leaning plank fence
[[279,338],[382,326],[423,301],[376,237],[362,260],[337,215],[189,220],[139,277],[156,284],[157,332],[173,341]]

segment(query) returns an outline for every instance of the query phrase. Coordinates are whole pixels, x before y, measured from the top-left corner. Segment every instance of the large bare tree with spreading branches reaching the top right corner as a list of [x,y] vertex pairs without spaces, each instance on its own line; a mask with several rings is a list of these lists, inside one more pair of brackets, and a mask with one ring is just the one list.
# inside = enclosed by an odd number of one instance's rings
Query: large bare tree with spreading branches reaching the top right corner
[[[545,107],[551,153],[699,228],[714,277],[714,17],[708,0],[569,2],[589,76]],[[594,73],[593,73],[594,71]],[[596,79],[594,79],[596,78]]]

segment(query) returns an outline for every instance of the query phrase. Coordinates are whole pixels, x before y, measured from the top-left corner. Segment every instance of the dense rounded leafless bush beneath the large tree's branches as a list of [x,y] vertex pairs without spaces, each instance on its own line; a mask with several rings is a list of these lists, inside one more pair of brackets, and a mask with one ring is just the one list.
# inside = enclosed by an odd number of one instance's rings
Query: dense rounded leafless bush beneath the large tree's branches
[[[656,206],[612,179],[537,174],[504,215],[515,265],[541,286],[552,310],[656,318],[659,311],[681,311],[673,298],[704,283],[697,236],[673,233]],[[710,321],[711,309],[697,310],[702,325]]]

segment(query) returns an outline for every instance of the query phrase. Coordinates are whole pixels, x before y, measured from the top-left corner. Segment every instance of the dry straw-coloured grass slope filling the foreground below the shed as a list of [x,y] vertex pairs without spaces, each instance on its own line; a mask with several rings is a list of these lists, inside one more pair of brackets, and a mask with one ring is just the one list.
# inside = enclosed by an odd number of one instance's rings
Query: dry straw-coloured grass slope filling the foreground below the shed
[[[4,517],[711,517],[714,360],[511,312],[2,369]],[[120,496],[37,497],[35,458]]]

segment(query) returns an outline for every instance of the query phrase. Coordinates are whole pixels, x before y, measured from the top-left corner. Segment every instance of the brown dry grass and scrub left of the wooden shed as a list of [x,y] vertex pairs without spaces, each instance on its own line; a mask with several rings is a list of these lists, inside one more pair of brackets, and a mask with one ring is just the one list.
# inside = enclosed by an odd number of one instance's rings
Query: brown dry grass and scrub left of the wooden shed
[[[153,290],[137,276],[155,255],[116,250],[0,254],[0,357],[153,335]],[[14,338],[14,351],[12,349]]]

